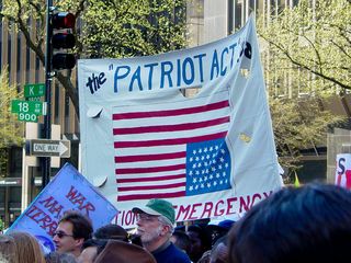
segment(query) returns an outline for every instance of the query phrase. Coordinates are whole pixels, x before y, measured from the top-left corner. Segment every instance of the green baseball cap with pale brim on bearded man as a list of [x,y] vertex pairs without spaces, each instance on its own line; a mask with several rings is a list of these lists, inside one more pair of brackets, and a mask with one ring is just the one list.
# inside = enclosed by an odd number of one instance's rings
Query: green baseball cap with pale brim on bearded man
[[145,213],[151,216],[163,216],[171,224],[176,222],[173,205],[166,199],[150,199],[144,207],[134,207],[132,211],[136,214]]

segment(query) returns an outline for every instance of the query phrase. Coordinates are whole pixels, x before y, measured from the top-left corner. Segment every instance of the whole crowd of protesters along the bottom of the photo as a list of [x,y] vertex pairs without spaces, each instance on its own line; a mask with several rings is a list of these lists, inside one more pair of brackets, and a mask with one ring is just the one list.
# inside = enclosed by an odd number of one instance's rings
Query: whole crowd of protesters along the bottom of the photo
[[67,213],[45,253],[27,232],[0,235],[0,263],[324,263],[351,262],[351,192],[335,185],[286,187],[242,218],[176,227],[174,209],[150,199],[132,209],[135,233],[117,225],[93,231]]

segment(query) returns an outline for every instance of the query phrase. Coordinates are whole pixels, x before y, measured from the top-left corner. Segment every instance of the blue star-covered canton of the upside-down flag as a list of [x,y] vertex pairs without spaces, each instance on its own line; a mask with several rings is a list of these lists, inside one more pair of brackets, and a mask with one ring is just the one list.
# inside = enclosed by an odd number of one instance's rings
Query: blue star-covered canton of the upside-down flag
[[188,144],[186,196],[230,187],[230,155],[225,139]]

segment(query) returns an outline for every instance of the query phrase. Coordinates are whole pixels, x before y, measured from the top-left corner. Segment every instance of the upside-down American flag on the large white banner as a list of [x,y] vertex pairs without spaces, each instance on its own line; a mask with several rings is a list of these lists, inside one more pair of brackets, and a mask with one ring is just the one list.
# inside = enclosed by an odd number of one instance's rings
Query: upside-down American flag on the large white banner
[[113,107],[117,201],[230,188],[228,93]]

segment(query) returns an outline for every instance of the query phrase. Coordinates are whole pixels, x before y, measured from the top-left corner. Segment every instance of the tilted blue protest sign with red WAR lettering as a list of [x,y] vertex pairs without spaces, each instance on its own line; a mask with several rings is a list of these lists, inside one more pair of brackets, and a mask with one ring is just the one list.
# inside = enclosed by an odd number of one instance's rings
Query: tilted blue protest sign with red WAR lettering
[[78,210],[91,219],[93,229],[107,225],[116,208],[71,164],[66,163],[8,231],[32,233],[49,251],[53,235],[67,210]]

